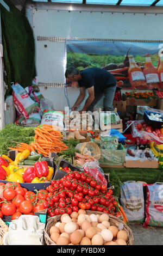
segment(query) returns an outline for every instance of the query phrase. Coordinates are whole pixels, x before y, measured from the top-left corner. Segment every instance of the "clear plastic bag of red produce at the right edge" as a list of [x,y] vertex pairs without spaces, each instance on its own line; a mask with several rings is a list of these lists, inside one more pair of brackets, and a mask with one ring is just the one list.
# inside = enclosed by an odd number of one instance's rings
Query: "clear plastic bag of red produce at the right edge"
[[158,144],[163,143],[163,135],[159,129],[152,129],[148,126],[145,120],[136,120],[131,124],[131,135],[136,138],[139,137],[139,143],[137,144],[149,144],[155,141]]

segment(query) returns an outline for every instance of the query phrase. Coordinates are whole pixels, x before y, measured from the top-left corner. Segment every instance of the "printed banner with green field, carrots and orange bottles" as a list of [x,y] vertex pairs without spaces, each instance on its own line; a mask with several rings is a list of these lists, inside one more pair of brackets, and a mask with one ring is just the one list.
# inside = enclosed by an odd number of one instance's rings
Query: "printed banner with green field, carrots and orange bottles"
[[66,40],[67,68],[108,70],[118,87],[128,89],[163,88],[162,53],[160,42]]

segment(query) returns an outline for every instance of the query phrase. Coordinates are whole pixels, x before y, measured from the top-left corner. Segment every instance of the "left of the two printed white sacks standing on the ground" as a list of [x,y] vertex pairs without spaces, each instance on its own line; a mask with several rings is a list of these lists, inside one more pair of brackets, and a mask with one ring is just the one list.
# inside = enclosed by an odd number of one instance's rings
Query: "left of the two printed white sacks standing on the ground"
[[142,183],[126,181],[121,185],[121,205],[131,222],[145,220],[145,201]]

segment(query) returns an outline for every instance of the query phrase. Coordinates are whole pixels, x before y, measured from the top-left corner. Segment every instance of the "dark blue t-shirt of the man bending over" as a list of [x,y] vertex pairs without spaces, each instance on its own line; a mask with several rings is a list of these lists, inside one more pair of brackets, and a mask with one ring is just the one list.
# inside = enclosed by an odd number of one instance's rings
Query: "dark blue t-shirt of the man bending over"
[[78,80],[79,87],[94,86],[95,93],[103,92],[106,87],[116,86],[115,77],[110,72],[100,68],[88,68],[80,71],[82,79]]

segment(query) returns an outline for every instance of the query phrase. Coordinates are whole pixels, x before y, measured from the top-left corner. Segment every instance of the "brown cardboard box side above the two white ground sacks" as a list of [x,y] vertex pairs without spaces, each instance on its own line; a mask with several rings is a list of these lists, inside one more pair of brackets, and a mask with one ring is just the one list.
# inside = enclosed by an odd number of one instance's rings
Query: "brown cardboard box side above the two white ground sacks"
[[157,169],[159,167],[159,162],[157,160],[129,160],[124,162],[124,167],[126,168],[155,168]]

